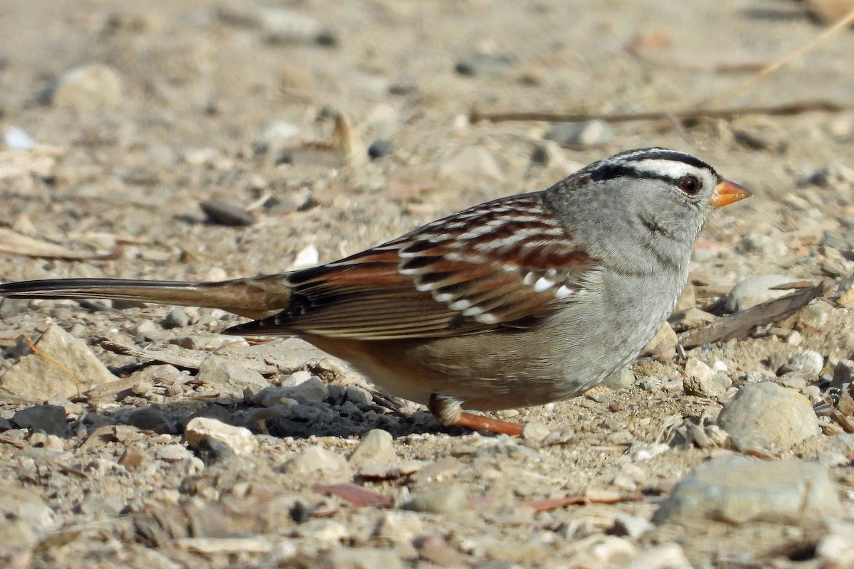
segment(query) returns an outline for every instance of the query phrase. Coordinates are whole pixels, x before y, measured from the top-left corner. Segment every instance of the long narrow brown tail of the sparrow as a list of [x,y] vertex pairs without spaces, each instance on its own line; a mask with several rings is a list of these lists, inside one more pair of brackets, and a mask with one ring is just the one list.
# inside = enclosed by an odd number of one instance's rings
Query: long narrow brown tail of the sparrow
[[0,296],[18,299],[113,299],[219,308],[259,319],[290,305],[287,276],[219,282],[48,279],[0,284]]

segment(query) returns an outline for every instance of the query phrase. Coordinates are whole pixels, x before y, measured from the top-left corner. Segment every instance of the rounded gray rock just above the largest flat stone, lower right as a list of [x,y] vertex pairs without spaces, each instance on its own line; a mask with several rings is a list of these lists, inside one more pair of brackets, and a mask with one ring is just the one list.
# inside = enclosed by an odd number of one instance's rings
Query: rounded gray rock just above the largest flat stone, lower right
[[786,450],[819,433],[810,400],[770,382],[742,386],[717,424],[738,450]]

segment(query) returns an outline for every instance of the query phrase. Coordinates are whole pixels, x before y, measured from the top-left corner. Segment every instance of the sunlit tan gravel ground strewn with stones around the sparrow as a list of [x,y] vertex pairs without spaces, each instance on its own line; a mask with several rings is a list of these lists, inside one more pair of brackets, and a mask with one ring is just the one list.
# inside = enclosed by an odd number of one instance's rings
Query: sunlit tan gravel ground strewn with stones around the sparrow
[[[677,332],[827,285],[497,414],[520,438],[221,311],[3,301],[3,566],[854,566],[854,112],[470,120],[697,107],[821,32],[781,0],[3,0],[2,281],[288,270],[662,145],[755,194],[707,225]],[[723,106],[851,107],[851,69],[846,30]]]

